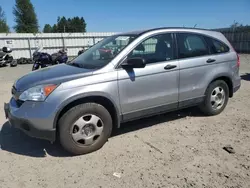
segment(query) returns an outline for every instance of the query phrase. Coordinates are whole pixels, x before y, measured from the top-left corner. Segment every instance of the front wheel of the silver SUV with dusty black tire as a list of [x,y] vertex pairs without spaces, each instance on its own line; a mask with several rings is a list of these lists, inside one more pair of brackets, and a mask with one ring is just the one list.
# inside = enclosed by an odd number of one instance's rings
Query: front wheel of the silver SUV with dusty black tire
[[[84,118],[86,118],[87,116],[90,116],[88,117],[89,120],[87,119],[87,121],[85,121]],[[88,139],[88,138],[86,139],[83,138],[82,140],[79,140],[79,138],[76,139],[76,136],[73,135],[78,135],[78,136],[80,135],[80,138],[84,137],[83,135],[86,134],[84,128],[86,128],[86,126],[94,127],[94,125],[92,125],[91,123],[86,123],[88,121],[91,122],[93,117],[100,118],[100,120],[98,120],[98,123],[102,124],[102,126],[99,127],[100,129],[102,129],[102,131],[99,131],[100,135],[93,136],[94,134],[96,134],[95,132],[98,132],[95,130],[99,130],[99,128],[96,127],[97,129],[96,128],[92,129],[94,130],[93,131],[94,133],[92,136],[90,136],[93,137],[93,139]],[[82,126],[82,128],[78,126],[79,124],[78,121],[81,123],[84,122],[83,123],[84,126]],[[82,155],[99,150],[107,142],[112,132],[112,118],[107,109],[104,108],[102,105],[96,103],[84,103],[75,106],[71,108],[69,111],[67,111],[60,118],[58,128],[59,128],[60,143],[62,147],[71,154]],[[94,141],[93,143],[89,144],[90,143],[89,140],[91,141],[94,140]]]

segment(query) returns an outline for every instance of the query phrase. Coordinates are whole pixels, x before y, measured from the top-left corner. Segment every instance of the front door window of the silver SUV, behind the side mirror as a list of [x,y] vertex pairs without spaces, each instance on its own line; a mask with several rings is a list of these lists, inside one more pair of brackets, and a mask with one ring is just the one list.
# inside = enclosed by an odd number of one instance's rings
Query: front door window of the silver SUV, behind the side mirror
[[158,63],[174,59],[171,33],[155,35],[137,45],[128,58],[141,57],[146,63]]

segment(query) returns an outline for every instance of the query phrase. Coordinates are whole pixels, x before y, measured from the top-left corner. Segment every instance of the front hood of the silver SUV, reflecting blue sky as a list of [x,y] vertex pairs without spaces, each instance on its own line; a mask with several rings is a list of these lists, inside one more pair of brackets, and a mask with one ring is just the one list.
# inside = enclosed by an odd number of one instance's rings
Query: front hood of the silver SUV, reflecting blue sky
[[41,84],[59,84],[69,80],[90,76],[93,70],[59,64],[32,71],[18,79],[14,87],[20,92]]

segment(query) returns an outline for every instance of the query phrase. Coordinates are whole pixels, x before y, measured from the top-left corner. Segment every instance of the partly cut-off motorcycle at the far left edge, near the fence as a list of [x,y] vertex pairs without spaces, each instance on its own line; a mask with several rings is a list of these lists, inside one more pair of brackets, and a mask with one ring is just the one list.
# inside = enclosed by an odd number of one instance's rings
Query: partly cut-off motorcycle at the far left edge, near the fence
[[11,52],[12,50],[8,47],[2,48],[2,51],[0,51],[0,67],[4,67],[7,64],[10,64],[11,67],[17,66],[17,62],[14,60]]

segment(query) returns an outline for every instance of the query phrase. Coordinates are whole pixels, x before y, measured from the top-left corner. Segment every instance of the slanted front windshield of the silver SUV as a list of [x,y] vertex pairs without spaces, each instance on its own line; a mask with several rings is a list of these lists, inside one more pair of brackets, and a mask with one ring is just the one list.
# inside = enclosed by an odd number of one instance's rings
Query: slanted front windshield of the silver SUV
[[114,59],[137,35],[114,35],[98,42],[80,56],[69,62],[69,65],[100,69]]

